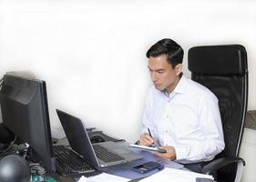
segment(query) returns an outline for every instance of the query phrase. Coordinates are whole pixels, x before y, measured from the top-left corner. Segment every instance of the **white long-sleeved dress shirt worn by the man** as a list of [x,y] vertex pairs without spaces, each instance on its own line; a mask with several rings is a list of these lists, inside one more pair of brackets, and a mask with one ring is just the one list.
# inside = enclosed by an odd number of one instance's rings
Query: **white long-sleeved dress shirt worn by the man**
[[142,132],[148,129],[184,164],[209,161],[225,147],[218,98],[185,76],[169,95],[149,89]]

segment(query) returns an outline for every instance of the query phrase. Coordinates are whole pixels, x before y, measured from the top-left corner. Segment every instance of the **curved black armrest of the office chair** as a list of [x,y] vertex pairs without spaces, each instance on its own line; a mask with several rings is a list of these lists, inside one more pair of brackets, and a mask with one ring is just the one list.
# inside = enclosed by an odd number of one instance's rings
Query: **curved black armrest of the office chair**
[[245,166],[245,161],[241,157],[221,157],[204,166],[202,168],[202,173],[208,175],[214,174],[221,167],[225,167],[232,163],[241,163],[242,166]]

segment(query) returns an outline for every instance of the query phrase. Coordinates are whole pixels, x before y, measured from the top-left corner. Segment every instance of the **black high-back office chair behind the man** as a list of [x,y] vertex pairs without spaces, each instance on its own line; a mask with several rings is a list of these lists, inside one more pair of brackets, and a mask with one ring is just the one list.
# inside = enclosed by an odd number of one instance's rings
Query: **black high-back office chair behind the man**
[[247,54],[242,45],[196,46],[189,49],[191,78],[219,99],[225,149],[203,173],[217,181],[240,181],[245,162],[239,157],[248,102]]

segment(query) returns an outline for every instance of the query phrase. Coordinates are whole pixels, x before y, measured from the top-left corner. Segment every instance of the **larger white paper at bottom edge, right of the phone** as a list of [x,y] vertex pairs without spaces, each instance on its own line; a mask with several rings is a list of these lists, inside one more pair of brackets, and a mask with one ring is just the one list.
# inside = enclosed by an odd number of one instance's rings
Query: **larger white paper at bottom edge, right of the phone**
[[175,181],[175,182],[196,182],[196,177],[210,178],[210,175],[202,175],[200,173],[190,172],[176,168],[164,168],[159,173],[150,177],[146,177],[139,182],[159,182],[159,181]]

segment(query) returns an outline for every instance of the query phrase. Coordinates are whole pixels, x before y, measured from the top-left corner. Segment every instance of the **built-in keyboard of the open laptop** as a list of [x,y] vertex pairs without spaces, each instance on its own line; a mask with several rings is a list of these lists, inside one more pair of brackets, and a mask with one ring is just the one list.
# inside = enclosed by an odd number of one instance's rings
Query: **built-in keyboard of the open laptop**
[[106,163],[116,162],[119,160],[125,160],[125,158],[120,157],[117,154],[114,154],[114,153],[108,151],[108,149],[105,147],[102,147],[99,145],[94,145],[93,148],[94,148],[97,158],[99,158],[100,160],[102,160]]

